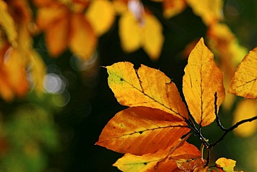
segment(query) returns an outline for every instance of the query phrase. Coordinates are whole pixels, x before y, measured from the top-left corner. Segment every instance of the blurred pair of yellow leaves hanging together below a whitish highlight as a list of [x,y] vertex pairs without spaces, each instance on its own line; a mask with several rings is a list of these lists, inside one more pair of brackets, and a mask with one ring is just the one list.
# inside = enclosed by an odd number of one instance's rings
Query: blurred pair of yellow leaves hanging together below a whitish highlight
[[144,10],[140,1],[128,1],[128,9],[123,10],[119,19],[119,37],[124,51],[134,52],[142,47],[152,60],[158,59],[163,47],[162,31],[158,19]]

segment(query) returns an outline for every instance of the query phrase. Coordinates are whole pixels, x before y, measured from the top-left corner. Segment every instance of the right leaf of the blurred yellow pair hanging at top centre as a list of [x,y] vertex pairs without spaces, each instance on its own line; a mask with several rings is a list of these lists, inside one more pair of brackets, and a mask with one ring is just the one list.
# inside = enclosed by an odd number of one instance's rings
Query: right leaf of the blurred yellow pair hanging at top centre
[[163,48],[163,26],[154,15],[146,14],[142,31],[142,47],[151,60],[155,61]]

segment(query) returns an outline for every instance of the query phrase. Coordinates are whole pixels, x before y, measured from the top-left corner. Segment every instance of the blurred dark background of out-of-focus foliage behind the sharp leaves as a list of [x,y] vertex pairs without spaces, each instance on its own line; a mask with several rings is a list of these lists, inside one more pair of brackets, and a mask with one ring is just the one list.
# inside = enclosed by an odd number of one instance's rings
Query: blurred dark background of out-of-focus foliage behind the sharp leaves
[[[94,145],[126,108],[102,67],[129,61],[159,69],[183,97],[183,68],[204,37],[226,86],[257,46],[256,9],[255,0],[0,0],[0,171],[118,171],[111,165],[122,154]],[[228,95],[222,124],[256,116],[256,104]],[[237,170],[256,171],[256,121],[244,128],[213,149],[212,163],[226,157]],[[203,133],[210,142],[222,135],[216,123]],[[194,137],[188,142],[201,146]]]

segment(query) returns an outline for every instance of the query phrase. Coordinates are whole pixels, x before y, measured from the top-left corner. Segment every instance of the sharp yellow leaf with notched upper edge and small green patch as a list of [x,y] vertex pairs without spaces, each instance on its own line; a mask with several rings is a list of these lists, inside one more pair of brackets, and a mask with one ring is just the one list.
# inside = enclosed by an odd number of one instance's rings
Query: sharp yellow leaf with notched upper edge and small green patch
[[138,70],[129,62],[107,66],[108,84],[118,102],[128,107],[151,107],[188,119],[188,110],[176,85],[160,70],[141,65]]

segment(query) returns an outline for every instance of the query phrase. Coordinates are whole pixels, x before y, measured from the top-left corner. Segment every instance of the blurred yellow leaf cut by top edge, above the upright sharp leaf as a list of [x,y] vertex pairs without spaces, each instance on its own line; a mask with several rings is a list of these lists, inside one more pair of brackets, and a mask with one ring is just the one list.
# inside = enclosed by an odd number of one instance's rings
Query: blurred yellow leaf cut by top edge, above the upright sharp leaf
[[187,0],[195,15],[199,15],[206,26],[223,18],[222,0]]

